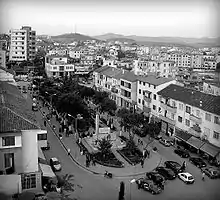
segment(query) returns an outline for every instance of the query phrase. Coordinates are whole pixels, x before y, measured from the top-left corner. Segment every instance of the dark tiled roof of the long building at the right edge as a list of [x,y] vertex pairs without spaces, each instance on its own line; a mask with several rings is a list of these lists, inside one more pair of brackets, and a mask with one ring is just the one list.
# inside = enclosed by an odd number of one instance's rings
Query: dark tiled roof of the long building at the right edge
[[[204,111],[220,115],[220,96],[205,94],[174,84],[159,91],[158,94],[200,108]],[[200,106],[201,102],[202,106]]]

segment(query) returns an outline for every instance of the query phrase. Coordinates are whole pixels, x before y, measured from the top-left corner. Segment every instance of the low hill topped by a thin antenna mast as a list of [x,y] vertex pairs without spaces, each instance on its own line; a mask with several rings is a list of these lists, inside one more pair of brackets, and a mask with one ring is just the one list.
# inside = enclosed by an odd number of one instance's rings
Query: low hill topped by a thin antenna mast
[[56,42],[71,43],[74,41],[97,40],[87,35],[79,33],[66,33],[62,35],[52,36],[51,39]]

